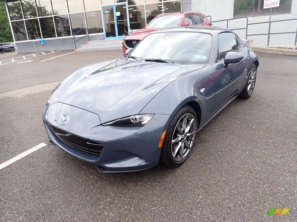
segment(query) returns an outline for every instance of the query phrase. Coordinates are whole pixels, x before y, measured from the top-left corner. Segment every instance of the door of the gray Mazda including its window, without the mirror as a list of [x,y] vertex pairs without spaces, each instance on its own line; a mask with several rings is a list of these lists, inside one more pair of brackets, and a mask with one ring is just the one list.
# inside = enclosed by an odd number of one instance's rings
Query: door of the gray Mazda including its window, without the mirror
[[[238,91],[242,85],[242,79],[246,76],[247,55],[238,48],[238,41],[236,41],[232,32],[219,33],[217,63],[213,65],[216,87],[214,110],[221,107]],[[243,59],[241,62],[229,64],[225,68],[223,63],[228,52],[239,52]]]

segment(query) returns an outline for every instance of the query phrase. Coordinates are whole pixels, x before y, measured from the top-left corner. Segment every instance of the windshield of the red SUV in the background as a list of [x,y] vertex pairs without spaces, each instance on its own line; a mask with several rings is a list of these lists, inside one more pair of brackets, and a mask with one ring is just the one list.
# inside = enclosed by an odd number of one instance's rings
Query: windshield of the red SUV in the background
[[169,28],[176,27],[183,15],[160,16],[151,20],[146,28]]

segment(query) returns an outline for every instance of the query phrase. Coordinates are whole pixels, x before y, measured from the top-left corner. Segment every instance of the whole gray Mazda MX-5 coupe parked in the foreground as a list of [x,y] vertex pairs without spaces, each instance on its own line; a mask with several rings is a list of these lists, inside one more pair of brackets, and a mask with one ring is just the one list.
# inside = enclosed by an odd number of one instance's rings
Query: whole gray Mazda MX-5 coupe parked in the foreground
[[252,95],[259,65],[235,33],[214,26],[159,30],[127,55],[76,71],[44,109],[49,144],[100,172],[181,165],[211,118]]

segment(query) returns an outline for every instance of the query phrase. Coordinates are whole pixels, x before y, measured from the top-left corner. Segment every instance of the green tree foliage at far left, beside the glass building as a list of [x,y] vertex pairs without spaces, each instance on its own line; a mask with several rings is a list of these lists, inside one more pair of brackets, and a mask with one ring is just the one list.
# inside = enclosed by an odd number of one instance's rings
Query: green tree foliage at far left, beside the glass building
[[12,42],[12,33],[4,2],[0,1],[0,42]]

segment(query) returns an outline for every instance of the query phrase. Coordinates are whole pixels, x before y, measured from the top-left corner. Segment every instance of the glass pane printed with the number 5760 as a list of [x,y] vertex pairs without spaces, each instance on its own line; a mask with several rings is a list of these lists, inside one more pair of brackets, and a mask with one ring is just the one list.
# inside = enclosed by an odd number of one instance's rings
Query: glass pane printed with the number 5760
[[103,33],[101,11],[86,12],[88,33]]

